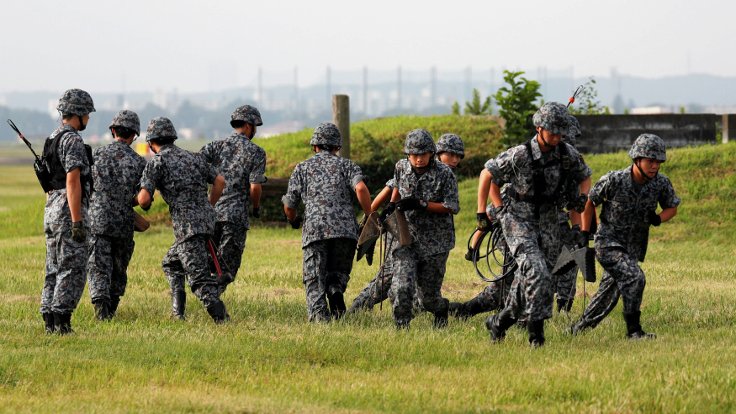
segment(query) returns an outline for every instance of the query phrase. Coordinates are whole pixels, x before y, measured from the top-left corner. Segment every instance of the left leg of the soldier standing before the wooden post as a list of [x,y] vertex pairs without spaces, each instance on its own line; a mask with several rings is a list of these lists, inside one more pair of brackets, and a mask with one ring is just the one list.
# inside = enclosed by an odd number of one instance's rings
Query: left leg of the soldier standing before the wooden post
[[307,316],[310,322],[328,322],[327,308],[327,249],[324,240],[312,242],[302,248],[304,264],[302,280],[307,296]]

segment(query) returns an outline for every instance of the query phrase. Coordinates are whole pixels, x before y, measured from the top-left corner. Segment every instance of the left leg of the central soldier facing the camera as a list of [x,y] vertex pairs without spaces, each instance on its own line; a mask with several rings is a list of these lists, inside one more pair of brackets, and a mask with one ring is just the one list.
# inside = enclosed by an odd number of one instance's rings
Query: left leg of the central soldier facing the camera
[[412,246],[403,246],[394,251],[393,260],[395,273],[390,295],[393,297],[394,322],[398,329],[408,329],[413,318],[418,259]]

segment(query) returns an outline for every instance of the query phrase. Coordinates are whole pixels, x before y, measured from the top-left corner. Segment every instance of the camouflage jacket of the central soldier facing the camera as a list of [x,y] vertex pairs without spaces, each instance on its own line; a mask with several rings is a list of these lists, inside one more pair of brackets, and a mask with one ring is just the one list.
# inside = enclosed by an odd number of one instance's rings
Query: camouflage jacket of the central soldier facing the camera
[[[434,143],[432,143],[434,145]],[[453,214],[460,211],[457,180],[450,167],[437,161],[423,174],[415,173],[408,159],[399,160],[394,171],[396,188],[404,198],[417,198],[441,203],[452,214],[434,214],[426,210],[407,211],[412,246],[418,257],[434,256],[449,252],[455,247]]]

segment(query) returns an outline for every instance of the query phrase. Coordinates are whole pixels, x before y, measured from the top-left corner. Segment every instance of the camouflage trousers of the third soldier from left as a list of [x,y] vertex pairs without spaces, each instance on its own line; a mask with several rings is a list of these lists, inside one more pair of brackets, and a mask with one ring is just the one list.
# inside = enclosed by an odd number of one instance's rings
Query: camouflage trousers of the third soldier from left
[[172,295],[184,291],[186,281],[205,308],[220,300],[217,281],[210,274],[207,238],[207,235],[197,234],[177,240],[161,262]]

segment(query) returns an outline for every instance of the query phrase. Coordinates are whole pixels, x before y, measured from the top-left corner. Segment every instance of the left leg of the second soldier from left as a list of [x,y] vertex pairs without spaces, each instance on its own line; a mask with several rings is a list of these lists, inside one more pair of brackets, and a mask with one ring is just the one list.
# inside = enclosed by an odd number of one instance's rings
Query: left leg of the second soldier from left
[[[113,278],[114,258],[113,240],[104,235],[90,237],[89,259],[87,260],[87,280],[89,297],[95,308],[95,318],[110,319],[110,287]],[[113,253],[114,251],[114,253]]]

